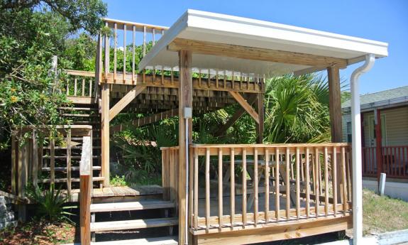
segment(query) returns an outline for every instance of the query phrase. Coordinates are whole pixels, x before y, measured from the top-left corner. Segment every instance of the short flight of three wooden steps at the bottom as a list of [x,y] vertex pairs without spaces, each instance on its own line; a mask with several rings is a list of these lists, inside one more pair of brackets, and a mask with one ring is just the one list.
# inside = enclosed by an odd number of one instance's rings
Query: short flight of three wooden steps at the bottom
[[[153,211],[155,209],[155,211]],[[138,202],[111,202],[111,203],[92,203],[90,207],[91,212],[91,234],[92,244],[178,244],[177,236],[173,236],[173,227],[178,225],[177,217],[170,217],[170,214],[175,209],[175,203],[164,200],[140,200]],[[162,214],[163,217],[154,217],[148,219],[124,219],[120,212],[138,212],[143,214],[148,212]],[[110,217],[118,218],[114,221],[97,221],[97,214],[109,214]],[[137,214],[136,214],[137,215]],[[106,215],[105,215],[106,216]],[[126,215],[132,216],[132,215]],[[169,236],[159,236],[153,238],[138,238],[138,239],[121,239],[119,241],[95,241],[95,233],[101,232],[118,232],[131,231],[140,229],[150,229],[158,227],[167,227]],[[155,233],[155,232],[154,232]]]

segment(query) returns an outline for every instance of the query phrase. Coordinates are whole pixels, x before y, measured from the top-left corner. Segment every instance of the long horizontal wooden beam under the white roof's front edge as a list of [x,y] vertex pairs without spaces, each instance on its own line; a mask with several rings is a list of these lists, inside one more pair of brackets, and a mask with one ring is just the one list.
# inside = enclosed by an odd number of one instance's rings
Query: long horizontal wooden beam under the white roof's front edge
[[218,55],[245,60],[263,60],[293,65],[309,65],[316,67],[330,67],[336,65],[337,67],[347,67],[347,60],[340,58],[270,50],[266,48],[251,48],[241,45],[211,43],[182,38],[176,38],[173,40],[172,43],[167,45],[167,50],[189,50],[192,51],[192,53],[200,53],[203,55]]

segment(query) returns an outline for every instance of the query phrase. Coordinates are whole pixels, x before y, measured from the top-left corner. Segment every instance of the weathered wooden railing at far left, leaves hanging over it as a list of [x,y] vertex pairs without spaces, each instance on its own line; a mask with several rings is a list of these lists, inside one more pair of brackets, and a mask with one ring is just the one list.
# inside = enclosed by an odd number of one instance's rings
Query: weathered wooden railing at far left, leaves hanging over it
[[[54,126],[54,129],[26,127],[13,131],[11,143],[13,195],[25,198],[28,183],[60,185],[62,190],[66,190],[67,195],[71,195],[72,185],[75,184],[74,187],[79,188],[79,161],[84,151],[82,146],[85,137],[92,138],[92,126]],[[93,180],[99,180],[98,178]]]

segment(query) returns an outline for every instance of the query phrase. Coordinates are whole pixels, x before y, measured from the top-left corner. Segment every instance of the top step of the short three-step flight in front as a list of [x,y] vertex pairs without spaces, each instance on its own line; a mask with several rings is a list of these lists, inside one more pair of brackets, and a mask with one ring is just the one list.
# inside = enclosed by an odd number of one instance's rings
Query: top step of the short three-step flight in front
[[113,212],[113,211],[127,211],[127,210],[144,210],[144,209],[162,209],[175,207],[174,202],[151,200],[139,202],[113,202],[113,203],[99,203],[91,205],[91,212]]

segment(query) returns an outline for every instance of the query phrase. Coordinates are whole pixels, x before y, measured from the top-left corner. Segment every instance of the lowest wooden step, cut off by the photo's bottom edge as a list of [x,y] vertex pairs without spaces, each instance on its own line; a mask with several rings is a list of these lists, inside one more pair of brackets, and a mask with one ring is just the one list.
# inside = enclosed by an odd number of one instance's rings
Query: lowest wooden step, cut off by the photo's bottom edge
[[162,236],[143,239],[92,242],[92,245],[177,245],[177,236]]

